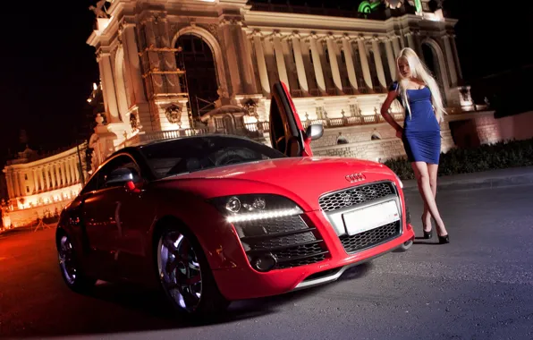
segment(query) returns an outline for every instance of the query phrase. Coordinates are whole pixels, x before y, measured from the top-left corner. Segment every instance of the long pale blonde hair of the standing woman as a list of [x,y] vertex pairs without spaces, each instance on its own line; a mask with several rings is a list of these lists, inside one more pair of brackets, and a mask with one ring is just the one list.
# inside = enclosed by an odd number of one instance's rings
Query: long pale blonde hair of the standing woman
[[423,81],[427,88],[431,91],[431,103],[433,104],[433,109],[435,111],[436,119],[440,123],[444,120],[444,111],[443,98],[441,96],[441,91],[438,88],[436,80],[432,77],[431,72],[427,70],[427,66],[422,63],[419,58],[419,55],[410,47],[405,47],[400,51],[400,55],[396,58],[396,74],[398,81],[398,91],[402,97],[403,105],[407,106],[410,115],[410,105],[409,98],[407,98],[407,85],[409,84],[409,78],[403,78],[402,73],[400,72],[400,59],[404,58],[409,64],[411,77],[416,78],[419,81]]

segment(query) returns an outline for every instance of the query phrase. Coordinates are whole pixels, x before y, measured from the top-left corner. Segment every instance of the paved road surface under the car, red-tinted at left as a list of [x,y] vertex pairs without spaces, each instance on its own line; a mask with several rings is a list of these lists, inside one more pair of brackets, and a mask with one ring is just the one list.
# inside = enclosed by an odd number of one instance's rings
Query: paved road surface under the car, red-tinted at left
[[[334,284],[235,303],[210,324],[179,321],[132,287],[72,293],[52,230],[0,238],[0,337],[531,339],[532,189],[439,193],[452,243],[417,240]],[[420,235],[420,200],[409,200]]]

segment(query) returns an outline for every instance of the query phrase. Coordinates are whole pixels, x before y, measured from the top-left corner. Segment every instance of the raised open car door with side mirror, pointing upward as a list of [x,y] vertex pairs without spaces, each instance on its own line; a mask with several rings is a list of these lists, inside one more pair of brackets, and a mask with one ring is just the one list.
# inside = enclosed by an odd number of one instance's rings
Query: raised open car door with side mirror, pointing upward
[[270,102],[270,141],[272,148],[288,157],[310,157],[311,140],[322,137],[322,124],[309,125],[304,131],[291,95],[282,81],[274,84]]

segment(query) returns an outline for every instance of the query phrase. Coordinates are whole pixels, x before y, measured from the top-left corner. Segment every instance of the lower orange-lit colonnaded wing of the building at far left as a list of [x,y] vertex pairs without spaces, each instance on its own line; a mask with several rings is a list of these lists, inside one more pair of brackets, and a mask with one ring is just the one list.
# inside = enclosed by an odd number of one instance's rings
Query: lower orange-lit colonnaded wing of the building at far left
[[81,174],[78,150],[82,144],[52,156],[39,157],[25,149],[4,166],[8,200],[3,201],[3,225],[30,225],[38,218],[54,217],[75,195],[87,174]]

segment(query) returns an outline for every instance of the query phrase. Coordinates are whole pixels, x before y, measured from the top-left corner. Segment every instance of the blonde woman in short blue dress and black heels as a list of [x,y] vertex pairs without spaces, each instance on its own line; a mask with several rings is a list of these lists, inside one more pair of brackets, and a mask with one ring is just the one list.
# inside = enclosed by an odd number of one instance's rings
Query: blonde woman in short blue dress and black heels
[[[396,130],[410,161],[419,191],[424,200],[422,226],[424,238],[432,236],[431,217],[435,220],[439,243],[450,238],[436,208],[436,174],[441,152],[439,123],[443,120],[444,107],[438,85],[411,48],[403,48],[396,59],[398,79],[389,88],[381,115]],[[403,127],[388,113],[394,99],[405,108]]]

